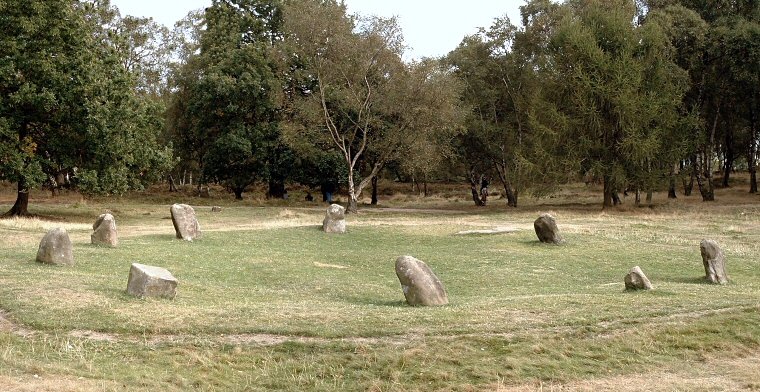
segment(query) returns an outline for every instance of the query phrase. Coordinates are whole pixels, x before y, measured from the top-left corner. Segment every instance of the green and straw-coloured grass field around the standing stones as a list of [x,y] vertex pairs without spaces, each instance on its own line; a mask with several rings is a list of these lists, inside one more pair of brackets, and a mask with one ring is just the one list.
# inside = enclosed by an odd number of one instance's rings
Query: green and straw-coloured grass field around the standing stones
[[[35,195],[32,212],[54,220],[0,221],[0,390],[760,390],[757,196],[602,211],[582,185],[518,209],[475,208],[461,191],[387,196],[393,208],[349,215],[345,235],[321,232],[325,206],[297,195]],[[174,238],[173,202],[196,206],[202,239]],[[106,210],[114,249],[89,244]],[[536,240],[545,211],[566,244]],[[34,262],[56,226],[73,267]],[[457,234],[495,227],[514,230]],[[723,247],[728,285],[705,283],[703,238]],[[406,254],[450,305],[405,305]],[[128,296],[133,262],[169,269],[176,299]],[[623,290],[635,265],[654,290]]]

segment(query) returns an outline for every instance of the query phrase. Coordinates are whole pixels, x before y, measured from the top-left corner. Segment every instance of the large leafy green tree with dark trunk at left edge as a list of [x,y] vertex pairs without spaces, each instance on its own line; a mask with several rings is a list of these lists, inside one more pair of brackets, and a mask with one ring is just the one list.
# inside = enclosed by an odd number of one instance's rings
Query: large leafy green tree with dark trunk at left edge
[[76,171],[85,193],[155,180],[171,151],[160,117],[134,95],[109,41],[108,2],[0,2],[0,178],[18,183],[6,215],[27,215],[29,189]]

